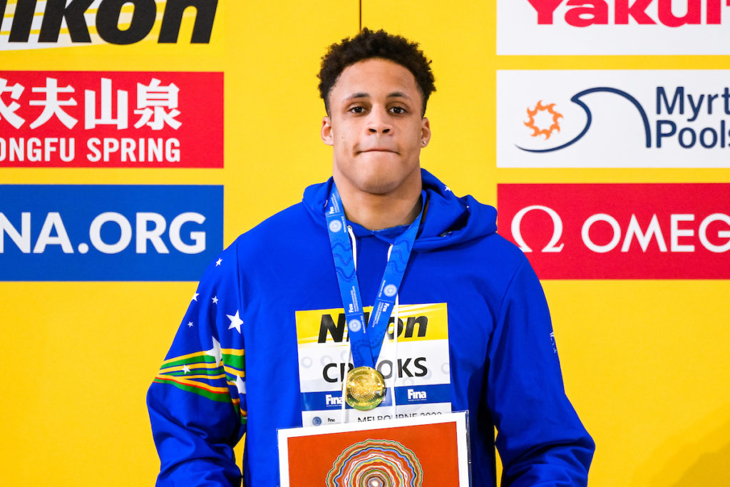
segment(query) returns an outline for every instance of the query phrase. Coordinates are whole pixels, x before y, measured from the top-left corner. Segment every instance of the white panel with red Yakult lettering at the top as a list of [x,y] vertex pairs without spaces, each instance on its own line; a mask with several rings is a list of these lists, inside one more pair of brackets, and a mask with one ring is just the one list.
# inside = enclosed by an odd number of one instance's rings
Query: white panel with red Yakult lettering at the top
[[498,0],[498,54],[727,54],[728,0]]

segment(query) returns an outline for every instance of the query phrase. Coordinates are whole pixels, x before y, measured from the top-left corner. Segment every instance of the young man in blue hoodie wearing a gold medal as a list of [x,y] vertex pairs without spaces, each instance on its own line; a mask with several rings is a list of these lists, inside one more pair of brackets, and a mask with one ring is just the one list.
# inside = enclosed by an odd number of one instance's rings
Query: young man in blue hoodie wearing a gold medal
[[[492,207],[420,169],[429,61],[366,29],[331,46],[320,81],[333,176],[205,272],[147,396],[158,485],[238,485],[246,432],[245,484],[276,486],[277,429],[450,410],[469,411],[474,486],[495,485],[495,426],[503,486],[585,485],[594,445],[564,394],[537,277]],[[370,306],[384,311],[369,319]],[[376,393],[350,388],[358,370]],[[415,404],[404,385],[439,399]]]

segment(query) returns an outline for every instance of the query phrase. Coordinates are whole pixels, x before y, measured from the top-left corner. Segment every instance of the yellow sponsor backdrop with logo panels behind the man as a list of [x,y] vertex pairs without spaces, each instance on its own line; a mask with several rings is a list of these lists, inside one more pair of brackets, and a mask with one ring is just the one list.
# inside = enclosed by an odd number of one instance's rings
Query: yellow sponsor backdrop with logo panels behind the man
[[330,174],[315,74],[361,25],[433,58],[423,166],[498,205],[500,233],[542,277],[566,389],[598,445],[591,486],[728,480],[728,2],[0,11],[9,485],[153,483],[145,392],[195,281]]

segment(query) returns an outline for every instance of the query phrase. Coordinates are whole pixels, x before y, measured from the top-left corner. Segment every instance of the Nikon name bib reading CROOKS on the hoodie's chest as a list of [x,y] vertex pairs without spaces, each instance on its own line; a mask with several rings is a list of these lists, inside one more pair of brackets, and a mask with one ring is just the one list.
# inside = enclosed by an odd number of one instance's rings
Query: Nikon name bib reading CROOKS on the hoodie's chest
[[[365,308],[366,320],[372,308]],[[401,304],[398,308],[398,340],[393,340],[393,318],[383,338],[374,367],[385,381],[385,396],[372,401],[358,383],[350,392],[360,393],[342,413],[344,380],[361,380],[370,388],[371,373],[358,372],[350,359],[346,318],[342,308],[296,312],[299,353],[301,421],[304,426],[345,422],[410,418],[451,412],[448,319],[446,303]],[[395,397],[393,398],[393,386]],[[374,386],[373,386],[374,387]],[[378,391],[380,391],[380,386]],[[382,399],[382,401],[380,400]],[[393,408],[393,399],[396,407]],[[379,404],[374,404],[379,402]],[[363,410],[361,410],[363,409]],[[394,416],[393,416],[394,415]]]

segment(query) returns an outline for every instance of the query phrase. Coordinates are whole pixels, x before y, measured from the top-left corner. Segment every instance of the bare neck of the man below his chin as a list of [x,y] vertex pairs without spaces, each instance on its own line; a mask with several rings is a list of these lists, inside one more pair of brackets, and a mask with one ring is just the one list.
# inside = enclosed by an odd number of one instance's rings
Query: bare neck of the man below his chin
[[420,212],[420,172],[418,184],[407,185],[403,191],[385,194],[358,191],[347,182],[334,178],[337,191],[342,198],[347,220],[364,226],[368,230],[389,229],[393,226],[412,223]]

